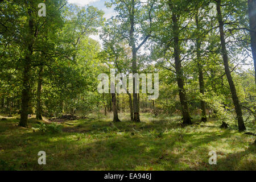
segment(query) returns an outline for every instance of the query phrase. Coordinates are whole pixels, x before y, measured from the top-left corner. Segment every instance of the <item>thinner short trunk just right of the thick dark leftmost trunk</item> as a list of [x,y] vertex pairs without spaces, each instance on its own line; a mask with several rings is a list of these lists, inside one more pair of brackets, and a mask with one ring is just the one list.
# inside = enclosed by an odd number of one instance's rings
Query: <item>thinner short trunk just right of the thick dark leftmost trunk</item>
[[41,104],[41,94],[42,94],[42,78],[43,74],[43,66],[39,67],[39,72],[38,72],[38,90],[36,92],[36,119],[42,120],[42,104]]

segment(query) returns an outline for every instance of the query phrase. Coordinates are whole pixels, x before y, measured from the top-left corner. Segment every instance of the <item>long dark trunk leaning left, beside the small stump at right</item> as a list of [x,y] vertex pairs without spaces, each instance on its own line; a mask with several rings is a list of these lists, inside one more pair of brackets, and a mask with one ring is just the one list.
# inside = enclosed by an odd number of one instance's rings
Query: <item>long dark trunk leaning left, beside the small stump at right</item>
[[222,20],[222,14],[221,14],[221,0],[217,0],[217,12],[218,12],[218,23],[220,25],[220,38],[221,38],[222,57],[224,61],[225,73],[226,73],[226,77],[228,78],[229,88],[232,93],[232,100],[237,113],[238,129],[239,131],[243,131],[243,130],[246,130],[246,127],[245,127],[245,123],[243,123],[240,102],[238,100],[236,87],[234,85],[234,82],[230,73],[230,69],[229,69],[228,52],[226,51],[225,34],[224,34],[223,20]]

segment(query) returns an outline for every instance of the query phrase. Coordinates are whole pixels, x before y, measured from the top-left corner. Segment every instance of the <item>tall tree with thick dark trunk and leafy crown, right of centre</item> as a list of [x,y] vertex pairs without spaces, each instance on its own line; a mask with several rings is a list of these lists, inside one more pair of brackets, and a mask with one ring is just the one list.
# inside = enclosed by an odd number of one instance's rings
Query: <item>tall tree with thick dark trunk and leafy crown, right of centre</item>
[[[185,53],[183,50],[181,51],[181,43],[184,42],[184,40],[187,40],[183,37],[185,34],[185,27],[182,27],[184,24],[184,20],[186,19],[184,10],[187,8],[187,2],[177,2],[172,0],[163,1],[158,8],[168,9],[168,11],[166,11],[166,13],[159,12],[158,23],[156,23],[154,26],[159,28],[160,34],[156,34],[154,35],[154,37],[155,40],[160,42],[160,44],[162,44],[164,47],[164,49],[160,51],[160,55],[163,55],[164,60],[168,60],[169,57],[174,57],[174,65],[172,63],[170,63],[170,65],[174,67],[175,71],[165,66],[164,68],[175,72],[176,81],[179,88],[179,98],[181,105],[180,110],[183,115],[183,123],[185,125],[191,125],[192,121],[189,114],[187,96],[184,88],[184,72],[182,68],[183,66],[181,64],[184,60],[184,58],[181,59],[181,53]],[[171,30],[168,33],[166,33],[166,31],[163,31],[166,30],[166,26],[169,30]],[[156,46],[156,48],[157,47],[158,46]]]

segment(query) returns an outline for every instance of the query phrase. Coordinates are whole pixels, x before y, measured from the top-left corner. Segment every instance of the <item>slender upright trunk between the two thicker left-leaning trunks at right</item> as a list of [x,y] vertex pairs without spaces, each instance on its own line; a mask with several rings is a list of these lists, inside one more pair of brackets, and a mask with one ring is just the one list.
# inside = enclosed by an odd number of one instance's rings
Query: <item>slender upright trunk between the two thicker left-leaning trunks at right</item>
[[[198,14],[196,14],[196,28],[197,28],[197,31],[200,31]],[[196,40],[196,55],[197,55],[197,67],[199,72],[199,88],[200,88],[200,93],[204,95],[204,74],[203,74],[203,65],[201,63],[200,38],[197,38]],[[207,116],[205,112],[205,102],[203,100],[201,100],[200,102],[201,102],[201,121],[207,122]]]

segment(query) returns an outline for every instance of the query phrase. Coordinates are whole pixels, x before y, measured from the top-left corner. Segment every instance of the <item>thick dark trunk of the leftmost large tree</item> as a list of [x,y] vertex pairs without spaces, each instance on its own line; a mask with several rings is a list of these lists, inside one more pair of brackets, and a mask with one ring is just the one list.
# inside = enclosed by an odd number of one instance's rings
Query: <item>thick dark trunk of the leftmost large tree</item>
[[30,100],[30,71],[31,71],[31,56],[33,53],[33,27],[34,21],[31,15],[31,9],[28,9],[28,29],[30,36],[28,36],[28,46],[27,46],[27,55],[23,59],[23,88],[22,88],[22,104],[20,111],[20,121],[19,126],[27,127],[27,118],[28,118],[28,102]]

